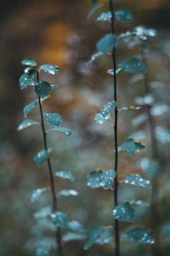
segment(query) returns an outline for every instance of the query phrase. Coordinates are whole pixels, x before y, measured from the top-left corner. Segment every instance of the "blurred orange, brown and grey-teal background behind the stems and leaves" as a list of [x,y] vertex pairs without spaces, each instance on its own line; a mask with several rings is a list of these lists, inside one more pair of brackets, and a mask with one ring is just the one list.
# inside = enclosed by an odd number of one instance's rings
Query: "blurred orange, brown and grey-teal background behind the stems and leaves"
[[[79,193],[77,197],[60,198],[60,210],[68,212],[70,220],[80,221],[87,227],[112,225],[112,191],[93,190],[86,185],[87,173],[96,168],[107,170],[114,164],[113,129],[109,125],[98,125],[93,118],[114,96],[112,76],[107,74],[112,68],[112,60],[100,57],[93,65],[87,66],[87,61],[96,52],[97,40],[110,32],[110,26],[105,22],[95,22],[97,13],[87,20],[91,9],[91,2],[87,0],[7,0],[1,1],[0,7],[1,256],[34,255],[28,249],[28,241],[34,238],[39,228],[33,214],[50,203],[50,195],[44,193],[36,203],[30,201],[34,189],[48,187],[49,183],[46,166],[38,168],[33,160],[34,153],[42,149],[39,129],[31,127],[17,132],[17,125],[24,119],[22,108],[36,98],[32,87],[24,91],[19,88],[19,76],[23,73],[21,61],[33,57],[38,65],[51,63],[62,68],[58,77],[41,74],[41,79],[60,86],[50,100],[44,102],[44,110],[60,113],[65,127],[73,130],[71,137],[58,133],[48,135],[48,145],[53,148],[54,170],[71,170],[76,177],[73,183],[56,178],[57,191],[76,189]],[[161,246],[163,255],[167,255],[170,250],[167,235],[170,233],[167,230],[167,223],[170,223],[170,4],[169,0],[122,0],[116,8],[122,7],[132,11],[133,20],[116,24],[116,33],[132,30],[135,26],[152,27],[158,31],[149,49],[148,69],[151,90],[158,106],[154,117],[161,152],[159,225],[165,227],[162,228]],[[117,51],[118,63],[138,54],[138,46],[128,49],[122,43]],[[137,96],[144,96],[142,79],[119,75],[118,108],[134,105]],[[134,157],[120,153],[120,181],[130,173],[141,174],[136,162],[151,154],[147,121],[138,127],[131,124],[132,119],[142,113],[146,113],[145,107],[128,113],[122,111],[119,115],[119,144],[133,134],[146,146],[146,150]],[[39,119],[38,108],[30,117]],[[120,185],[120,203],[126,199],[149,203],[149,197],[148,189]],[[140,209],[138,218],[149,228],[148,209]],[[129,224],[121,223],[120,226],[124,230]],[[52,231],[50,234],[53,235]],[[124,256],[150,255],[150,245],[134,245],[126,238],[122,238],[121,245]],[[81,241],[66,243],[65,255],[112,255],[113,251],[113,245],[95,245],[89,251],[82,248]]]

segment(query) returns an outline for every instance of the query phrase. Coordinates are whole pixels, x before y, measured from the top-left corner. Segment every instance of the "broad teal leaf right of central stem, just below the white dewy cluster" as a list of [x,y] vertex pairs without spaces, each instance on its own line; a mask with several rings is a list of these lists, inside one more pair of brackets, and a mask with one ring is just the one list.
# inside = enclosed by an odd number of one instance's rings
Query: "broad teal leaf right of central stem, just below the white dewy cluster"
[[131,58],[120,64],[125,73],[146,73],[146,66],[138,58]]

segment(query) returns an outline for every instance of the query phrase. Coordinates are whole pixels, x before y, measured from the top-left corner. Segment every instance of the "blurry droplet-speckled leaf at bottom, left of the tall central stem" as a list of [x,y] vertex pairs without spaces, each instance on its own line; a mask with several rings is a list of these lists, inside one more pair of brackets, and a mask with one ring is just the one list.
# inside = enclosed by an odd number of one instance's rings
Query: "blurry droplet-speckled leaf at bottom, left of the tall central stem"
[[89,249],[93,244],[108,245],[112,243],[114,237],[107,226],[94,226],[87,231],[87,239],[84,249]]

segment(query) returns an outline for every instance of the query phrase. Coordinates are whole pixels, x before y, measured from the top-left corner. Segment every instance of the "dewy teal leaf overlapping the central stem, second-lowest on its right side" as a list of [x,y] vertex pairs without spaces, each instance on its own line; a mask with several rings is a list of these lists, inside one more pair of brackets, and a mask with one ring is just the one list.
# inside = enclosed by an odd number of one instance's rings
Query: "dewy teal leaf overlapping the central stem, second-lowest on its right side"
[[134,210],[130,206],[130,203],[126,201],[125,203],[118,205],[114,208],[113,211],[114,218],[117,220],[122,220],[124,222],[134,222]]

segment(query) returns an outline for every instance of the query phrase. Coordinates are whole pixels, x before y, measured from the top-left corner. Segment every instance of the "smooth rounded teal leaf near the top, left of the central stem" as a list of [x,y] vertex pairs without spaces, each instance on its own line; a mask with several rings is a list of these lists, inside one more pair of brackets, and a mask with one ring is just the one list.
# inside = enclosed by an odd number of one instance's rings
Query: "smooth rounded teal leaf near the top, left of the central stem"
[[109,53],[117,44],[116,36],[114,34],[107,34],[97,42],[97,50],[101,53]]

